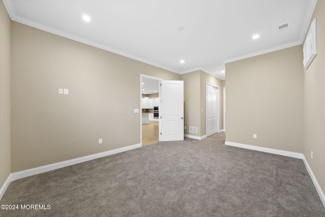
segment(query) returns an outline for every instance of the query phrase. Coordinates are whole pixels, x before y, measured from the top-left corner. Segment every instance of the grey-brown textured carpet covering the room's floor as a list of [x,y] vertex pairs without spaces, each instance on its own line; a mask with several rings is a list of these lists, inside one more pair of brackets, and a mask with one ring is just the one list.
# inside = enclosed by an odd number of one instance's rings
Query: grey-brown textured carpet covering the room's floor
[[0,204],[50,205],[0,216],[325,216],[302,160],[225,146],[224,133],[18,179]]

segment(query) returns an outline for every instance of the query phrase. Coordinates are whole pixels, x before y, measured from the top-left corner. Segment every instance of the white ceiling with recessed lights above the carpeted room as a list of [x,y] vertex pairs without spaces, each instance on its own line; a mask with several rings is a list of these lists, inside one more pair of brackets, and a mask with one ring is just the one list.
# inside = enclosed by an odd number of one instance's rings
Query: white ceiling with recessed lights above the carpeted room
[[[317,0],[3,0],[12,20],[178,74],[303,43]],[[82,19],[89,15],[90,22]],[[289,28],[277,31],[288,23]],[[184,29],[179,31],[178,27]],[[252,40],[253,34],[260,34]],[[183,59],[185,62],[180,63]]]

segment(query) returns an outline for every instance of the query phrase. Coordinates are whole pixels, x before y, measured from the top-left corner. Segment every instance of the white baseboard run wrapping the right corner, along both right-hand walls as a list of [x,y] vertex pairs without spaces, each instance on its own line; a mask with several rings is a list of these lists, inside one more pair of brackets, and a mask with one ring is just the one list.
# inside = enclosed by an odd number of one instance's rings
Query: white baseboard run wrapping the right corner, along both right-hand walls
[[277,150],[277,149],[263,148],[263,147],[258,147],[258,146],[250,146],[249,144],[241,144],[241,143],[236,143],[236,142],[231,142],[231,141],[225,141],[224,144],[226,144],[227,146],[234,146],[234,147],[243,148],[243,149],[255,150],[255,151],[259,151],[259,152],[266,152],[266,153],[271,153],[271,154],[276,154],[276,155],[282,155],[282,156],[302,159],[304,161],[306,168],[307,168],[309,176],[316,188],[316,191],[320,197],[320,200],[325,207],[325,195],[324,195],[323,191],[321,190],[321,188],[317,182],[317,179],[316,179],[313,171],[311,170],[304,154],[296,153],[296,152],[287,152],[287,151],[282,151],[282,150]]

